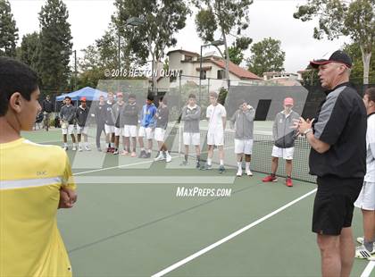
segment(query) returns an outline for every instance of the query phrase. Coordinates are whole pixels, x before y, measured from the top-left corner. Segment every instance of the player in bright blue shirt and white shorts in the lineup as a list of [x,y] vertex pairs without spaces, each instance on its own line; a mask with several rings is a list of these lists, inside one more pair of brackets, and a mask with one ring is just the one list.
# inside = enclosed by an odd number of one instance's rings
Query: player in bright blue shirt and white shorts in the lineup
[[[154,115],[156,113],[156,106],[154,105],[154,96],[148,95],[146,99],[146,105],[142,107],[141,111],[141,124],[138,132],[138,142],[141,152],[138,157],[149,158],[151,157],[151,151],[153,149],[153,137],[155,128]],[[143,138],[148,141],[148,148],[145,149]]]

